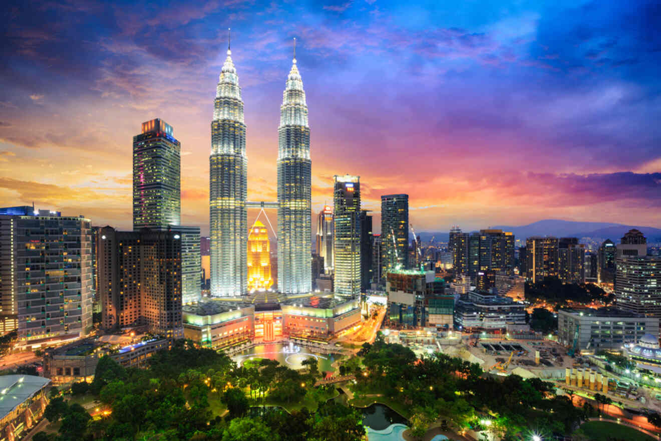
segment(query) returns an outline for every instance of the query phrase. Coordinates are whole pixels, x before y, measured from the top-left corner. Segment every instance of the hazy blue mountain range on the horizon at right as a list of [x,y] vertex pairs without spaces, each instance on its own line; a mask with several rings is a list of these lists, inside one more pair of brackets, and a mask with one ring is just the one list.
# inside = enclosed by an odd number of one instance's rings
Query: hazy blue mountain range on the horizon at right
[[[494,225],[490,228],[512,231],[517,239],[525,239],[525,237],[529,236],[595,237],[611,239],[615,243],[619,243],[619,239],[624,233],[632,228],[636,228],[642,231],[645,237],[647,237],[648,242],[661,242],[661,229],[659,228],[609,222],[574,222],[545,219],[518,227],[512,225]],[[429,241],[432,237],[435,237],[434,241],[447,242],[448,236],[448,231],[424,231],[420,233],[420,239],[423,242]]]

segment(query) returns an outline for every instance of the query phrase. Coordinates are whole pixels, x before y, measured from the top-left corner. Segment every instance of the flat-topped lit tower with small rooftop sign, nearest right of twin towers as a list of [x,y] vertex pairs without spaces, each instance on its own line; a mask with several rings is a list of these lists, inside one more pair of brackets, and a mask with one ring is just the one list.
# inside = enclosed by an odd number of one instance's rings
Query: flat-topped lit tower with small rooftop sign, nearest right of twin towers
[[337,294],[356,297],[361,288],[360,177],[345,175],[334,179],[334,287]]

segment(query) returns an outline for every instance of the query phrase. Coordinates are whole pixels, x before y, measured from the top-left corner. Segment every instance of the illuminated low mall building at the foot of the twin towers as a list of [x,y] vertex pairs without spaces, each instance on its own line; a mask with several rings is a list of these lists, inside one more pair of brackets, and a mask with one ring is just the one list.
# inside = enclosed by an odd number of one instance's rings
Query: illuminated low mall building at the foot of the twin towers
[[360,319],[360,299],[338,297],[276,303],[217,300],[183,309],[184,337],[216,349],[290,338],[325,342]]

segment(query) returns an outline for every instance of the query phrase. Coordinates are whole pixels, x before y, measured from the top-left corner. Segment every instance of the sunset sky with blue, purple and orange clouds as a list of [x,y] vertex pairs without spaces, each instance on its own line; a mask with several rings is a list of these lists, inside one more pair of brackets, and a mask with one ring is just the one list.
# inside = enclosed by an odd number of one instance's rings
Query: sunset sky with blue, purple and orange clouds
[[182,144],[182,223],[208,233],[210,123],[231,27],[250,200],[276,199],[296,37],[313,213],[332,202],[332,176],[350,173],[375,232],[389,193],[410,195],[418,231],[545,218],[661,227],[658,2],[5,5],[2,206],[130,229],[132,137],[163,118]]

